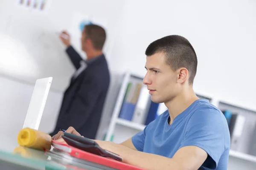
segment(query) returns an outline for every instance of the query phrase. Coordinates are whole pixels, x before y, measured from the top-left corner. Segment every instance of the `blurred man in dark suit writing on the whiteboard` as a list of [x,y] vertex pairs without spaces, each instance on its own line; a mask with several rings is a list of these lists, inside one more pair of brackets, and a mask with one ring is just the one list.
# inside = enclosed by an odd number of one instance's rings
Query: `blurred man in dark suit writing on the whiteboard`
[[72,126],[82,136],[95,139],[110,83],[107,60],[102,52],[105,30],[93,24],[84,27],[81,47],[87,54],[85,61],[70,45],[70,35],[66,31],[60,38],[67,46],[66,52],[76,72],[64,93],[56,127],[50,135]]

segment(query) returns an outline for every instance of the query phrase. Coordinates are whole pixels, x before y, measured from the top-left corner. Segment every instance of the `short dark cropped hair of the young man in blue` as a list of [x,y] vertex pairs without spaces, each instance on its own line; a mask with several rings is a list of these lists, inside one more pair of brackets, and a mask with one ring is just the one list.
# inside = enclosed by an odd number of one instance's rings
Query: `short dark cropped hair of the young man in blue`
[[189,71],[189,84],[192,85],[198,61],[195,50],[190,42],[179,35],[166,36],[151,42],[145,54],[151,56],[161,52],[165,54],[166,64],[170,65],[173,71],[182,67]]

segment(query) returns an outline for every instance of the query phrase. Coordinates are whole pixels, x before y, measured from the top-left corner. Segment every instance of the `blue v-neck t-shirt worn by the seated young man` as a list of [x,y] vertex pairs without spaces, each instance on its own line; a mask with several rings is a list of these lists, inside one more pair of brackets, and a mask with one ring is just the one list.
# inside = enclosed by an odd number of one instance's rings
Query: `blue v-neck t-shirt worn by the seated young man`
[[181,147],[194,145],[207,153],[199,170],[227,170],[230,133],[224,114],[206,99],[198,99],[169,125],[168,110],[132,137],[137,150],[172,158]]

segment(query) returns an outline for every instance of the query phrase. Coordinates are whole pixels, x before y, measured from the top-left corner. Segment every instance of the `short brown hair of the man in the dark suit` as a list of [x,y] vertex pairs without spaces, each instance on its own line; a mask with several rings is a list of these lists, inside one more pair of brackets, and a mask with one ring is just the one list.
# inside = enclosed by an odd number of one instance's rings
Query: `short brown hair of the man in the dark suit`
[[94,24],[86,25],[84,28],[87,38],[92,40],[93,47],[96,50],[102,50],[106,40],[106,32],[104,28]]

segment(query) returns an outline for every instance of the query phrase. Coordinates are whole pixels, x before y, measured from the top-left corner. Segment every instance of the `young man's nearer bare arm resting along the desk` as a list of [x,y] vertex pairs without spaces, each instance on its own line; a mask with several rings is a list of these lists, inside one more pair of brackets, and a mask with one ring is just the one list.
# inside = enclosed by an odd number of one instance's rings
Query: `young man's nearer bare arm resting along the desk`
[[198,170],[207,159],[200,147],[182,147],[172,158],[133,150],[125,145],[96,140],[100,147],[120,155],[123,161],[147,170]]

